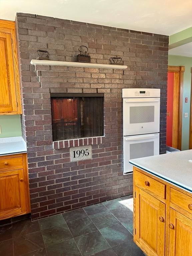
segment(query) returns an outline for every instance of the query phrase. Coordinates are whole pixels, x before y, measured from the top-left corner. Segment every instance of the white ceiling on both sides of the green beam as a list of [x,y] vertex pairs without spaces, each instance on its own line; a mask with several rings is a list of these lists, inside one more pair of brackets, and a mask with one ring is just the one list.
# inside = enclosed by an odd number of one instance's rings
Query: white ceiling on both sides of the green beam
[[[191,0],[0,0],[1,19],[15,20],[17,12],[162,35],[192,26]],[[170,51],[191,57],[192,44]]]

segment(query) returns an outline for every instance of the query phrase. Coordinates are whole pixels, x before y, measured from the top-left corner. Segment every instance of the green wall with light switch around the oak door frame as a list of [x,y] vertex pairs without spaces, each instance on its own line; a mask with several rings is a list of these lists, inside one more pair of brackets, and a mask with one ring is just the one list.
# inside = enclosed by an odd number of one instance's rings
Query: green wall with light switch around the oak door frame
[[[169,66],[185,66],[183,75],[183,115],[182,115],[182,142],[181,150],[189,149],[189,123],[190,123],[190,101],[191,101],[191,67],[192,58],[176,55],[168,55]],[[188,97],[188,103],[185,103]],[[188,113],[188,118],[184,118],[184,113]]]

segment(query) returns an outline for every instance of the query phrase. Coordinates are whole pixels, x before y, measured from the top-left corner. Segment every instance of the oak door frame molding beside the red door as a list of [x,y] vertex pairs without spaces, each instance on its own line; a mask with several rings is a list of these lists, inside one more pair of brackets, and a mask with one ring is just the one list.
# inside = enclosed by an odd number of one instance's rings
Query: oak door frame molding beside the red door
[[168,72],[174,73],[173,99],[173,137],[172,146],[181,150],[182,106],[183,106],[183,73],[185,66],[168,66]]

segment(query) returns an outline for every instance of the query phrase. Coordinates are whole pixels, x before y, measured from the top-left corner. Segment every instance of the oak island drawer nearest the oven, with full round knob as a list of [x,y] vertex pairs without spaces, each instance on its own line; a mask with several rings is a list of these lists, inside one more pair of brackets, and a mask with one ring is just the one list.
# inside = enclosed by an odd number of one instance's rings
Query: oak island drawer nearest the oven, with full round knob
[[151,195],[157,196],[159,198],[165,199],[165,188],[166,185],[152,179],[151,177],[140,173],[139,171],[134,172],[135,185],[139,188],[144,189]]

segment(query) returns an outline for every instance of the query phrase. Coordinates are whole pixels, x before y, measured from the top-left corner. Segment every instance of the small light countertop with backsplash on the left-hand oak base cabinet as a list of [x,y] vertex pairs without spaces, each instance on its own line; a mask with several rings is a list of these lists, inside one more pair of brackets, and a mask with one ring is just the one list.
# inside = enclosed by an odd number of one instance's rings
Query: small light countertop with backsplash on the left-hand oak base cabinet
[[27,152],[26,142],[21,136],[0,138],[0,155],[11,155]]

